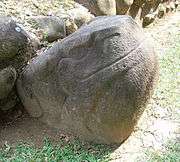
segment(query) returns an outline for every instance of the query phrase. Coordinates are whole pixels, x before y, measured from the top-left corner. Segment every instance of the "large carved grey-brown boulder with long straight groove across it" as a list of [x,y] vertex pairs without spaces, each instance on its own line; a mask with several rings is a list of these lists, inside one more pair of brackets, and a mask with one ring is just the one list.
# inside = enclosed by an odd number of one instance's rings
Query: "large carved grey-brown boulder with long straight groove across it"
[[121,143],[158,74],[153,47],[129,16],[102,16],[34,58],[17,81],[32,117],[80,139]]

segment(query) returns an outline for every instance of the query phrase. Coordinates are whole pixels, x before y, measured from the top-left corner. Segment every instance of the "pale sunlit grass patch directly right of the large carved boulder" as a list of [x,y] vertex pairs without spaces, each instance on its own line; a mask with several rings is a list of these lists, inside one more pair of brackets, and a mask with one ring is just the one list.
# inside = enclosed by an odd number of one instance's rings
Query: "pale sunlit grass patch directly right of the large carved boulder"
[[171,110],[180,107],[180,35],[175,42],[175,47],[160,58],[160,81],[155,92],[158,105]]

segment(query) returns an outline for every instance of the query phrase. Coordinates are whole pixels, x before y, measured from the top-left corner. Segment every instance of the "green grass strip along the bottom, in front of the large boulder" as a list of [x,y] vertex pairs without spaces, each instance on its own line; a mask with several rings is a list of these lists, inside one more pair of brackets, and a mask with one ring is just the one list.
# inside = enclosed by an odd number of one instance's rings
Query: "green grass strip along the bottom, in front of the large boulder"
[[41,148],[20,143],[15,147],[5,144],[0,150],[1,162],[107,162],[113,147],[61,140],[53,145],[45,139]]

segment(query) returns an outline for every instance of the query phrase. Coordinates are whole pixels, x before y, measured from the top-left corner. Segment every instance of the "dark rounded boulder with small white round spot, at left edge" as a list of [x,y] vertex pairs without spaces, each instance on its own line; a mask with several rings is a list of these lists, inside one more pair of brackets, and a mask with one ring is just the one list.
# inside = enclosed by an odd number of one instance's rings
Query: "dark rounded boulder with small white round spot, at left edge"
[[[0,16],[0,69],[9,65],[19,68],[25,60],[28,46],[27,33],[11,17]],[[13,60],[13,61],[12,61]]]

